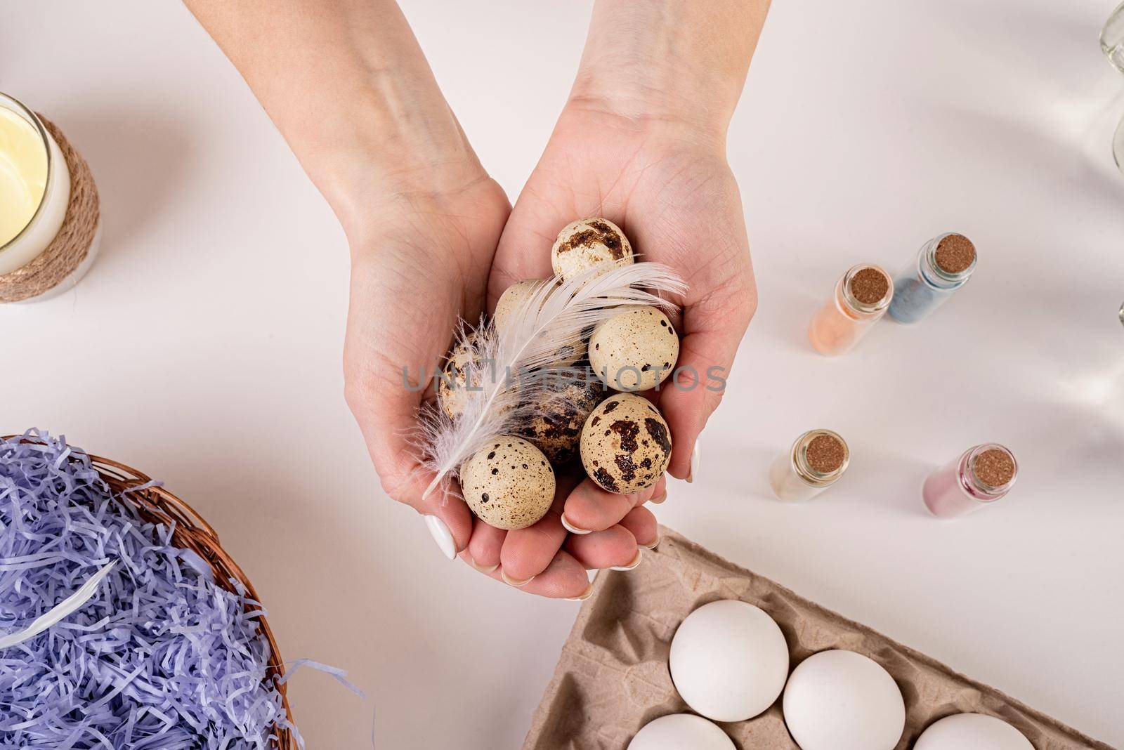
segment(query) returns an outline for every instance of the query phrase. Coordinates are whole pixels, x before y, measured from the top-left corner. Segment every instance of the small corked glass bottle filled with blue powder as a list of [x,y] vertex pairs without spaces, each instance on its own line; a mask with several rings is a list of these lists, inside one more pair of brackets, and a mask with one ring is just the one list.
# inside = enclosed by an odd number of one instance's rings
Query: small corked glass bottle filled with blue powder
[[976,246],[963,235],[946,232],[925,243],[917,257],[894,278],[890,318],[916,323],[968,283],[976,269]]

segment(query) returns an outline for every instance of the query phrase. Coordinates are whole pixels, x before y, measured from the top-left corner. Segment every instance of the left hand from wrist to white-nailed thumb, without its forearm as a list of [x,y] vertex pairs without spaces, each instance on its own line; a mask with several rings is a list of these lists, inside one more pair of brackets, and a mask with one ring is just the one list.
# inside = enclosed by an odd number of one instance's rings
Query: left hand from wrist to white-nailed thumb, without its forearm
[[352,250],[347,404],[383,490],[425,516],[452,559],[469,546],[473,518],[455,491],[424,496],[433,474],[414,445],[418,410],[433,397],[434,373],[459,321],[475,323],[484,310],[510,205],[479,166],[444,180],[441,190],[402,185],[366,195],[356,201],[362,211],[344,221]]

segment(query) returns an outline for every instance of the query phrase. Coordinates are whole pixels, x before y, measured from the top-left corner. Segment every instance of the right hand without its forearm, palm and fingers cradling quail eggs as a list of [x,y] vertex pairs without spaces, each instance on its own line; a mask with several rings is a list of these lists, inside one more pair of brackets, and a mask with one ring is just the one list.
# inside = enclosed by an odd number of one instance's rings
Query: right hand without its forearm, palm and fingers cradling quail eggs
[[[596,216],[624,230],[640,260],[664,263],[689,285],[674,300],[682,310],[678,369],[652,396],[671,427],[669,473],[690,479],[699,433],[722,400],[756,309],[742,202],[723,138],[572,101],[504,229],[490,307],[513,283],[550,276],[558,232]],[[589,568],[626,567],[656,541],[655,518],[643,504],[665,497],[663,482],[623,496],[586,478],[559,494],[552,512],[529,529],[473,534],[468,551],[475,562],[500,566],[508,583],[537,576],[527,588],[552,595],[553,550]]]

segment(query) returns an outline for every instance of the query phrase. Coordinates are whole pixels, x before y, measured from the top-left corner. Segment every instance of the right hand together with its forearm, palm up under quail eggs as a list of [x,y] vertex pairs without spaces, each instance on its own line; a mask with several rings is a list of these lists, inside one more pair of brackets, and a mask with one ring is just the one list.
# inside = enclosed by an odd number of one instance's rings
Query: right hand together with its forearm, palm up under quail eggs
[[[652,395],[671,427],[669,473],[688,481],[698,436],[756,309],[725,128],[767,7],[598,2],[578,82],[511,211],[489,282],[495,308],[510,284],[551,275],[558,232],[597,216],[620,226],[641,260],[677,269],[689,285],[674,300],[682,308],[679,369]],[[664,481],[631,496],[588,478],[571,485],[529,529],[473,534],[474,559],[500,564],[516,580],[551,575],[556,548],[588,568],[640,564],[641,548],[658,542],[643,504],[665,499]]]

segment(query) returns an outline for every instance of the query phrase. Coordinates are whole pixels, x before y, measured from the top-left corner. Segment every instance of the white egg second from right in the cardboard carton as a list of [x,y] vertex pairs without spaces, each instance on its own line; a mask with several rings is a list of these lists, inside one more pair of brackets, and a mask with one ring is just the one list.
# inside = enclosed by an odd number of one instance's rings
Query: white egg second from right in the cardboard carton
[[782,706],[800,750],[894,750],[906,726],[897,683],[854,651],[821,651],[801,661]]

